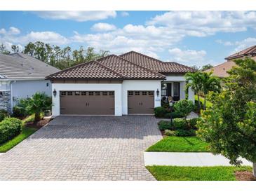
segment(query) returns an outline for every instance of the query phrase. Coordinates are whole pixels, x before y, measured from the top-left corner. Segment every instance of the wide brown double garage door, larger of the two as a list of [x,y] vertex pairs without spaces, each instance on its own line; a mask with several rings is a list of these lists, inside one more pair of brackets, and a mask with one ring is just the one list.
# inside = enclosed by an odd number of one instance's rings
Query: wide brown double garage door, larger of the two
[[61,91],[60,114],[114,115],[114,91]]

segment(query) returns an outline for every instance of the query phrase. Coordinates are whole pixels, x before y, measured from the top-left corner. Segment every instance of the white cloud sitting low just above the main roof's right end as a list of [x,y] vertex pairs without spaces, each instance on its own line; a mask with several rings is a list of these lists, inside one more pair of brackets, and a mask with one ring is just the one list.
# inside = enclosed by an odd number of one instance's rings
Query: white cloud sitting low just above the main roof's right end
[[181,50],[180,48],[172,48],[168,50],[172,61],[184,64],[203,64],[205,62],[205,50]]

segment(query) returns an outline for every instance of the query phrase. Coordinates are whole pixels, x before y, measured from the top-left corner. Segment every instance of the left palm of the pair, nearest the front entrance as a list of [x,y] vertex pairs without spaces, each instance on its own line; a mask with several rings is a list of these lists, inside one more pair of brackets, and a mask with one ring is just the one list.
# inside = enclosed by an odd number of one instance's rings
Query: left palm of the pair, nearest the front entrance
[[186,84],[186,88],[191,88],[192,90],[194,90],[195,94],[198,97],[198,102],[197,102],[197,107],[198,107],[198,111],[200,111],[201,109],[201,103],[199,100],[199,92],[201,91],[201,83],[202,83],[202,78],[201,78],[201,72],[200,71],[196,71],[195,73],[187,73],[185,75],[186,80],[188,81],[188,83]]

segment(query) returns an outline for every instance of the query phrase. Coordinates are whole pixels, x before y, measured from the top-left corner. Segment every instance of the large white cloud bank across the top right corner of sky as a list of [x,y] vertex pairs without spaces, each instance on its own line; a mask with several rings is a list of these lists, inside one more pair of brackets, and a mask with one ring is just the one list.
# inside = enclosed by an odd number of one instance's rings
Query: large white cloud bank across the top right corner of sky
[[156,15],[147,25],[165,26],[188,36],[208,36],[217,32],[256,29],[255,11],[171,11]]

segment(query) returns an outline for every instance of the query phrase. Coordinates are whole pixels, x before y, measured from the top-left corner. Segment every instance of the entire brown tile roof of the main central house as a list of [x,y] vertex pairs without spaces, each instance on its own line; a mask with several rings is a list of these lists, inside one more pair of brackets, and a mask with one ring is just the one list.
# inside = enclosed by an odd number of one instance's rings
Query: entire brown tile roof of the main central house
[[194,69],[176,62],[161,62],[147,55],[131,51],[123,55],[109,55],[51,74],[46,78],[119,78],[164,79],[164,74],[185,74]]

